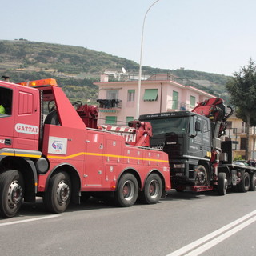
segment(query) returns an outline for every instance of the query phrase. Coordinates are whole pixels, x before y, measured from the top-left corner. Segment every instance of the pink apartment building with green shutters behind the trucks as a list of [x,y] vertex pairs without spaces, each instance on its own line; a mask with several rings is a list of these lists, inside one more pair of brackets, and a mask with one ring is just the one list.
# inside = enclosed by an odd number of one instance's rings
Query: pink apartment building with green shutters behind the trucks
[[[98,124],[127,125],[134,120],[137,107],[138,78],[128,76],[125,81],[109,81],[108,74],[101,75],[98,86]],[[142,80],[139,114],[166,111],[192,110],[197,102],[214,95],[190,86],[170,74],[154,74]]]

